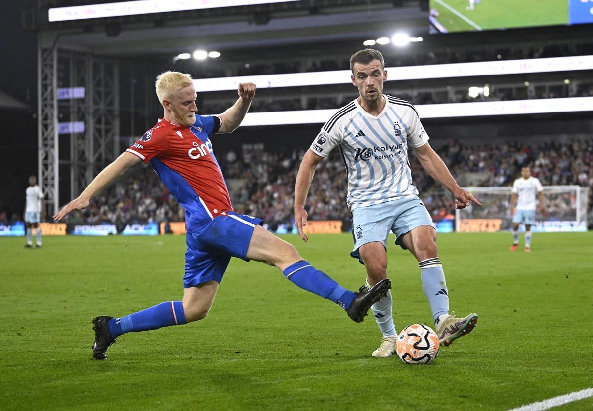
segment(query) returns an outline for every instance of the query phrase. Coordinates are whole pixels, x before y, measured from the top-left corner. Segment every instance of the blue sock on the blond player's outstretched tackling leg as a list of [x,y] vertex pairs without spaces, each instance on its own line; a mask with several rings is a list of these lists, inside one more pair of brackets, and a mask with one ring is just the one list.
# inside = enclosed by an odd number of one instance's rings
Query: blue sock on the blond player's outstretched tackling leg
[[333,301],[347,310],[356,296],[353,291],[346,290],[336,281],[331,280],[324,272],[319,271],[305,260],[289,265],[283,271],[288,280],[304,290],[311,291],[327,300]]

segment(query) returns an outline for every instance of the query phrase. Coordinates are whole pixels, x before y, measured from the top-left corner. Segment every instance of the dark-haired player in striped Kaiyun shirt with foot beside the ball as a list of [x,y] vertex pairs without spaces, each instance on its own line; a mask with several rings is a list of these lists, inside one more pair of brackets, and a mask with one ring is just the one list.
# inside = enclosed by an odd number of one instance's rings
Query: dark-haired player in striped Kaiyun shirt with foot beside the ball
[[[301,238],[308,237],[305,204],[315,168],[336,146],[346,165],[346,203],[353,215],[354,249],[350,253],[365,265],[366,284],[372,287],[387,278],[387,236],[396,234],[396,244],[409,249],[420,266],[422,288],[432,310],[439,341],[450,345],[476,325],[475,313],[463,318],[449,315],[449,296],[436,248],[436,230],[431,216],[418,198],[408,163],[408,145],[420,164],[455,197],[457,208],[481,206],[462,190],[445,163],[428,144],[428,134],[412,104],[382,94],[387,80],[380,52],[361,50],[350,57],[352,84],[359,97],[337,111],[315,137],[305,153],[295,182],[295,224]],[[388,357],[396,351],[391,292],[371,307],[383,333],[373,357]]]

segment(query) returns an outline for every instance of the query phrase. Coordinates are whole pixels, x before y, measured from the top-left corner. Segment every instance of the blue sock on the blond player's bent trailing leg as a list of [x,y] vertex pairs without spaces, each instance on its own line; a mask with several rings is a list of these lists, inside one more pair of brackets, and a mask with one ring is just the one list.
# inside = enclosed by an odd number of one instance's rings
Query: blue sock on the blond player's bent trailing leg
[[121,318],[112,318],[107,325],[113,338],[126,333],[155,330],[170,325],[186,324],[181,301],[167,301],[149,309]]

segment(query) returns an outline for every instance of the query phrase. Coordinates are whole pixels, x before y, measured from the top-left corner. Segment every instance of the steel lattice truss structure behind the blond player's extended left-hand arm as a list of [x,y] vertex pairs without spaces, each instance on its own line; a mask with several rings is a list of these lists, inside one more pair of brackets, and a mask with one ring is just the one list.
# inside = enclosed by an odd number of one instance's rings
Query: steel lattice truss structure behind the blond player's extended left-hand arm
[[[84,87],[85,97],[58,101],[58,86]],[[118,63],[88,53],[39,47],[38,92],[39,182],[49,211],[56,212],[61,204],[60,165],[69,167],[69,192],[62,198],[69,200],[119,154]],[[58,118],[85,123],[84,132],[69,134],[69,144],[62,140],[63,146],[69,146],[62,153]],[[65,196],[66,190],[61,194]]]

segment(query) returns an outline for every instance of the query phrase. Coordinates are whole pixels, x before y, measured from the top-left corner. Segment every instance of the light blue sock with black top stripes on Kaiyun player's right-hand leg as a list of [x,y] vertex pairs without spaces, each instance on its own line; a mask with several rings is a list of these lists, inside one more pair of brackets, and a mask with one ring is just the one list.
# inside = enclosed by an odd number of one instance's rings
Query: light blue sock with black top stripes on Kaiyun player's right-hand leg
[[445,282],[445,273],[438,257],[420,261],[422,290],[431,306],[432,319],[449,312],[449,293]]

